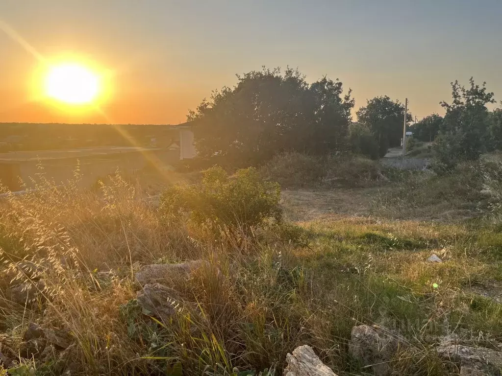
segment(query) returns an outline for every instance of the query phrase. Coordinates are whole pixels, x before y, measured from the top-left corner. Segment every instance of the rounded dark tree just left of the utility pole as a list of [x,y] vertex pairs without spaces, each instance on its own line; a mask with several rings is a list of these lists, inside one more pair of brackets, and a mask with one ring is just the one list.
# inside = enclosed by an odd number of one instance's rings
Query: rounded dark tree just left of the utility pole
[[[400,146],[404,116],[405,106],[388,96],[370,99],[365,107],[357,110],[357,121],[371,129],[379,143],[380,156],[384,156],[389,147]],[[407,121],[411,120],[412,115],[408,113]]]

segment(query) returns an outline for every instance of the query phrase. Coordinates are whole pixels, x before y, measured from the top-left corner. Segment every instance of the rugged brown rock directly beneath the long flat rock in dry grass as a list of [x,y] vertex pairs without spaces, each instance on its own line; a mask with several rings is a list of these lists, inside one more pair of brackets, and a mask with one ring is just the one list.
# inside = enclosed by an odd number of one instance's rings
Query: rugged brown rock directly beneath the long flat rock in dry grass
[[143,313],[167,322],[176,313],[179,305],[178,293],[172,288],[156,283],[145,285],[136,296]]

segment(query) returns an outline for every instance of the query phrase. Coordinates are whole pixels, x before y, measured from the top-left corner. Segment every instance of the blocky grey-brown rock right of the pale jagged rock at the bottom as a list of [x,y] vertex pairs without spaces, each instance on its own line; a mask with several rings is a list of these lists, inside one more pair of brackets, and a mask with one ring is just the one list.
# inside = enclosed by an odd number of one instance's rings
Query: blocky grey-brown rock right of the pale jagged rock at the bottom
[[349,353],[362,366],[371,366],[376,376],[388,376],[392,373],[389,363],[404,343],[384,328],[358,325],[350,333]]

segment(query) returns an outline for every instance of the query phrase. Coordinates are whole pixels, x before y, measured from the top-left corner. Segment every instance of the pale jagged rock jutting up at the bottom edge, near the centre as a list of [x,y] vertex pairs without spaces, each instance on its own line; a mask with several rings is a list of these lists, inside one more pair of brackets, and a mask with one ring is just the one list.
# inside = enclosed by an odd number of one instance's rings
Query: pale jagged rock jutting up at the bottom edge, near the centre
[[284,376],[336,376],[307,345],[295,348],[293,354],[286,355],[286,361]]

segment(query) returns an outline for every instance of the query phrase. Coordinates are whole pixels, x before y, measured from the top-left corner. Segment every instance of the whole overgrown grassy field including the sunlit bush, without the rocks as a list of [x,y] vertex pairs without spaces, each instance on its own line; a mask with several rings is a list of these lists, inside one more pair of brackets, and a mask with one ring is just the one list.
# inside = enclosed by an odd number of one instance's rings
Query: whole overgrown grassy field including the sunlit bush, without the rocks
[[[303,216],[308,202],[289,196],[279,205],[278,186],[254,169],[234,177],[211,169],[201,183],[167,189],[160,207],[119,176],[96,192],[48,184],[7,197],[4,369],[280,375],[286,354],[309,344],[337,374],[371,374],[348,351],[352,327],[364,323],[406,338],[413,351],[391,361],[399,374],[458,374],[434,350],[441,336],[492,349],[502,342],[497,182],[481,175],[467,187],[467,175],[450,175],[445,187],[435,180],[444,178],[379,171],[377,183],[357,188],[368,203],[358,216]],[[344,192],[359,194],[351,190]],[[444,202],[475,208],[477,217],[431,221]],[[427,261],[432,254],[442,262]],[[135,273],[143,265],[200,259],[201,268],[162,282],[172,314],[140,306],[145,287]],[[27,337],[31,322],[64,343]]]

